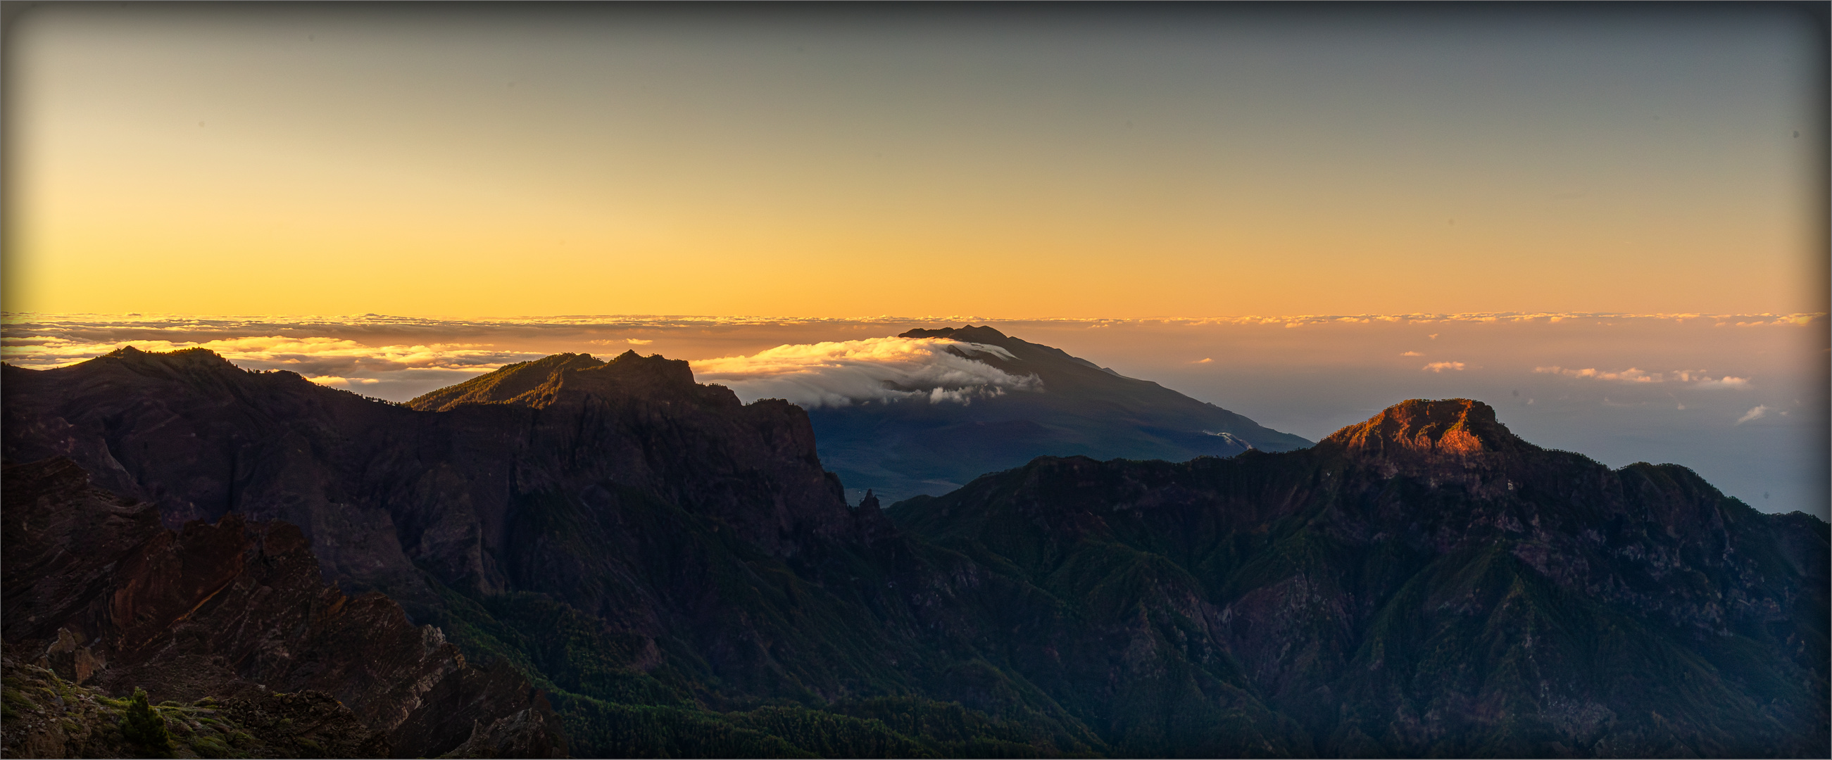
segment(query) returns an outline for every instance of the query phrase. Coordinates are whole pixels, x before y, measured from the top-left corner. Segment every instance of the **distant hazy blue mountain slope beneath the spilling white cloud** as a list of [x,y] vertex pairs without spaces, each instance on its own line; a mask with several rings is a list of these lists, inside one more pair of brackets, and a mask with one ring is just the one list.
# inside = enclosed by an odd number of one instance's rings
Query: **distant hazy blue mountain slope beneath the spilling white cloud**
[[998,346],[1011,359],[993,353],[967,357],[1017,377],[1035,375],[1042,383],[1037,390],[982,396],[969,403],[911,397],[810,408],[821,461],[848,487],[870,487],[890,502],[942,494],[980,474],[1019,467],[1044,454],[1183,461],[1310,445],[1158,383],[1119,375],[989,326],[911,330],[900,337]]

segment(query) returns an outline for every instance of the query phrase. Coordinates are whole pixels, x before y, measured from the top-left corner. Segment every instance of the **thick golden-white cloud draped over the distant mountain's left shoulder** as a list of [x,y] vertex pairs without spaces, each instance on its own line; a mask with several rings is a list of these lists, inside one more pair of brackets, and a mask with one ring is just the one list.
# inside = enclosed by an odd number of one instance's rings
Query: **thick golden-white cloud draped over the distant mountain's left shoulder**
[[703,359],[692,370],[700,383],[729,386],[746,403],[777,397],[810,408],[911,397],[969,403],[1042,388],[1037,375],[1013,375],[975,355],[1015,359],[1004,348],[978,342],[879,337]]

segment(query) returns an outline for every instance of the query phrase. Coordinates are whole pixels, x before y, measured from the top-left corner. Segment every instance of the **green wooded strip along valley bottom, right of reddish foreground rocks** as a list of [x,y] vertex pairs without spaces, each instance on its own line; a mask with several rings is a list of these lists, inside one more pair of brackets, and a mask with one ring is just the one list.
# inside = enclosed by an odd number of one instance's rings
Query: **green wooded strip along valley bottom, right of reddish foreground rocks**
[[649,639],[608,632],[603,621],[540,593],[471,599],[436,588],[447,637],[471,659],[506,657],[544,689],[575,756],[1099,755],[1086,729],[1064,731],[1042,714],[995,718],[914,696],[777,698],[729,709],[735,701],[718,690],[720,679],[692,663],[683,643],[654,652]]

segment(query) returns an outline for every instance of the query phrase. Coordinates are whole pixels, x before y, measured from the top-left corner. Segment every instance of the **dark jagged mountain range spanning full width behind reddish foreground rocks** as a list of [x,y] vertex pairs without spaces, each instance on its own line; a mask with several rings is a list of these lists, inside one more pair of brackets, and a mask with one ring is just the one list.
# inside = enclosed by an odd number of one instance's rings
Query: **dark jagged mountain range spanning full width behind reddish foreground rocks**
[[577,755],[1828,744],[1825,522],[1543,451],[1473,401],[1288,452],[1037,458],[879,511],[846,507],[801,408],[661,357],[392,405],[123,350],[0,392],[7,461],[66,456],[216,531],[297,524],[343,593],[546,690]]

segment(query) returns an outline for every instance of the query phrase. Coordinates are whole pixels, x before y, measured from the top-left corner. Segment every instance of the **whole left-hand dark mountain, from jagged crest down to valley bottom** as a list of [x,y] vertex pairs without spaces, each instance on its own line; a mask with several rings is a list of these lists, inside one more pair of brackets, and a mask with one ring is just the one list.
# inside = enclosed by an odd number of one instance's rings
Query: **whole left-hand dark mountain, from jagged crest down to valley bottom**
[[420,399],[427,410],[209,352],[7,366],[4,392],[9,461],[70,456],[167,522],[300,526],[326,579],[385,592],[550,689],[581,755],[656,725],[650,747],[674,747],[658,751],[806,753],[764,742],[762,700],[889,740],[889,723],[824,707],[942,709],[918,694],[998,711],[973,712],[986,731],[960,742],[1099,745],[971,646],[923,635],[896,586],[921,588],[900,579],[931,571],[925,549],[845,504],[801,408],[742,405],[680,361],[515,364]]

